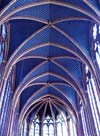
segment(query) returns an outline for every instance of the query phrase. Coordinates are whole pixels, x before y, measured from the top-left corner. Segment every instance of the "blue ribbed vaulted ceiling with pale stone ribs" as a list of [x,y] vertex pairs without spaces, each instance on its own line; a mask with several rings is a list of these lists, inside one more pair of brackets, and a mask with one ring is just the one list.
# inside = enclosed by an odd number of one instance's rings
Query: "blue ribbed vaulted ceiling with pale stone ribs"
[[92,24],[100,24],[99,6],[99,0],[2,1],[0,24],[10,24],[4,76],[16,65],[20,117],[46,107],[77,116],[77,96],[86,102],[82,65],[95,74],[89,38]]

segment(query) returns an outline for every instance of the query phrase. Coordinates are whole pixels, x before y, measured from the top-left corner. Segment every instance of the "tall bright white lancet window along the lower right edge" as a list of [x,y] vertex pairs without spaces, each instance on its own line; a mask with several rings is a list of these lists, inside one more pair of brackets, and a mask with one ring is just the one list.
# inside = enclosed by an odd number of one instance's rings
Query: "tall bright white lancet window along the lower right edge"
[[91,111],[94,119],[95,129],[97,136],[100,136],[100,100],[98,91],[96,89],[96,84],[94,82],[93,76],[89,72],[88,66],[85,67],[86,72],[86,86],[87,93],[90,101]]

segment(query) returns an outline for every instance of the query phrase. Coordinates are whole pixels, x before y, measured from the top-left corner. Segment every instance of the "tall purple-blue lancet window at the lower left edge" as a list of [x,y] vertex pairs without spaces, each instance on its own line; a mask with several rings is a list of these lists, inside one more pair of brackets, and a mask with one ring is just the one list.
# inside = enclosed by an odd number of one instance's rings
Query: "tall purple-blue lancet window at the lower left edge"
[[0,130],[2,130],[0,131],[1,134],[3,133],[4,130],[6,131],[8,126],[10,109],[11,109],[11,98],[12,98],[12,92],[13,92],[12,88],[14,85],[13,81],[14,81],[14,73],[12,70],[7,80],[7,83],[2,90],[2,94],[0,97]]

